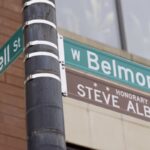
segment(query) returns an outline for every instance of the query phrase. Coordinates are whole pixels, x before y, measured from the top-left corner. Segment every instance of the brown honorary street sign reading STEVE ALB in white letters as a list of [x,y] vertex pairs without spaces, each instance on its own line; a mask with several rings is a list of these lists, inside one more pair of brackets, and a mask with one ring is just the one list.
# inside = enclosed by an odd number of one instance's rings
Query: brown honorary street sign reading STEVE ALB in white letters
[[150,96],[67,69],[68,96],[150,121]]

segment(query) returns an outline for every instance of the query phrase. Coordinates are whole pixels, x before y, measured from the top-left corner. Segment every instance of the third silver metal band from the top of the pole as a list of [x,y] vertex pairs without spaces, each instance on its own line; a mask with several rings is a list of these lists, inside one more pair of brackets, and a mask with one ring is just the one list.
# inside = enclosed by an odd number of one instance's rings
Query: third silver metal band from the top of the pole
[[56,50],[58,50],[58,47],[56,44],[54,44],[50,41],[44,41],[44,40],[30,41],[26,44],[25,49],[27,49],[30,46],[35,46],[35,45],[48,45],[48,46],[51,46],[51,47],[55,48]]

